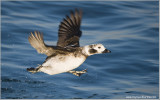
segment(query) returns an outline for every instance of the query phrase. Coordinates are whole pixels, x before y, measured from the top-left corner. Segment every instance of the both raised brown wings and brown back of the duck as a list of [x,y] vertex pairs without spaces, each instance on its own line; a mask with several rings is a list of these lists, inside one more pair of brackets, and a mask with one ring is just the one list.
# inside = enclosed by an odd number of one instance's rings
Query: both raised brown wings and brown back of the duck
[[70,17],[66,16],[61,22],[58,31],[57,46],[48,46],[44,43],[43,34],[35,31],[28,37],[29,43],[38,53],[47,56],[56,53],[67,54],[76,51],[75,47],[79,47],[79,38],[82,34],[80,31],[82,11],[75,10],[75,14],[71,11]]

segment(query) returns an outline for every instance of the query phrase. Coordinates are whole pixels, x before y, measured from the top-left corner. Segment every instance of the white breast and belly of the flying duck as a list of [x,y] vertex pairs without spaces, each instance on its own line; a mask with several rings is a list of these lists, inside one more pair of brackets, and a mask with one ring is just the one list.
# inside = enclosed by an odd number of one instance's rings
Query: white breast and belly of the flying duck
[[40,71],[50,75],[68,72],[79,67],[85,59],[85,56],[75,57],[73,54],[58,55],[43,63]]

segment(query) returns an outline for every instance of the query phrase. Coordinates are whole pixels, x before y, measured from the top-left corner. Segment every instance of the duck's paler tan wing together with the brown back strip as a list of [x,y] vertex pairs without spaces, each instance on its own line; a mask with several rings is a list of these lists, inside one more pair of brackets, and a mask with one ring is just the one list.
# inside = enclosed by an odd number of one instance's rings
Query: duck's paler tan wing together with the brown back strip
[[37,50],[38,53],[45,54],[47,56],[57,55],[57,54],[68,54],[70,52],[75,52],[77,48],[73,47],[59,47],[59,46],[48,46],[44,43],[43,34],[35,31],[31,32],[28,37],[29,43],[33,48]]

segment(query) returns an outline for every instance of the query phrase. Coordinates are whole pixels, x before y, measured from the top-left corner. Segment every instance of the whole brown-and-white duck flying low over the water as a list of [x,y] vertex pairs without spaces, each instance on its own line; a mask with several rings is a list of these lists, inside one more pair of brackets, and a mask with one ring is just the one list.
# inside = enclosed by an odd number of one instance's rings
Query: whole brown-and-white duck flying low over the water
[[69,72],[76,76],[86,73],[87,70],[75,71],[88,56],[94,54],[110,53],[102,44],[92,44],[80,47],[79,39],[82,11],[71,11],[59,25],[57,46],[48,46],[44,43],[43,34],[35,31],[28,37],[29,43],[38,53],[47,55],[42,65],[36,68],[27,68],[29,72],[44,72],[49,75]]

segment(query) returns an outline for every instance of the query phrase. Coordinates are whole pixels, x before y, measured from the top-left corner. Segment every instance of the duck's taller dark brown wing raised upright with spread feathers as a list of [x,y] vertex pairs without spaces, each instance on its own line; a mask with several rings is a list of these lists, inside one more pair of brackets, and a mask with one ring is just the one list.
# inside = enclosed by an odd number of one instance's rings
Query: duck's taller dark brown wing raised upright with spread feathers
[[57,46],[60,47],[79,47],[79,38],[81,37],[81,18],[82,11],[75,10],[75,13],[71,11],[70,17],[66,16],[59,25],[58,42]]

